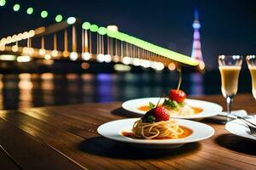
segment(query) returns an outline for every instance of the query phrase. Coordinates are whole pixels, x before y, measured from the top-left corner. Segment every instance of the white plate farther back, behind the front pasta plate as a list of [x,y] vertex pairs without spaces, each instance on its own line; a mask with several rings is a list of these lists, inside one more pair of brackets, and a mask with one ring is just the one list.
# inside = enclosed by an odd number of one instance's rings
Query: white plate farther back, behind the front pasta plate
[[[160,98],[131,99],[131,100],[125,101],[122,107],[127,111],[144,115],[146,111],[140,111],[137,108],[142,105],[148,105],[149,102],[154,103],[156,105],[159,99]],[[162,100],[163,99],[161,99],[161,101]],[[210,116],[216,116],[223,110],[222,106],[220,105],[217,105],[212,102],[198,100],[198,99],[185,99],[185,103],[187,103],[192,107],[199,107],[203,111],[201,111],[201,113],[191,115],[191,116],[172,116],[173,118],[200,119],[200,118],[205,118]]]

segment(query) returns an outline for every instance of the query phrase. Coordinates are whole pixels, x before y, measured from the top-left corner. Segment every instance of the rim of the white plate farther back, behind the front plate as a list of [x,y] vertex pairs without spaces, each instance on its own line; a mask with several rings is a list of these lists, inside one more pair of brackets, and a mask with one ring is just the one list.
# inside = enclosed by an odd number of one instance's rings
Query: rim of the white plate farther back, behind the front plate
[[[137,98],[137,99],[129,99],[129,100],[126,100],[125,102],[122,103],[122,108],[125,109],[125,111],[131,111],[132,113],[136,113],[138,115],[144,115],[144,111],[132,111],[132,110],[129,110],[125,107],[125,105],[127,105],[127,103],[131,102],[132,100],[138,100],[138,99],[159,99],[159,97],[147,97],[147,98]],[[197,114],[197,115],[193,115],[193,116],[172,116],[172,118],[178,118],[178,119],[200,119],[200,118],[207,118],[207,117],[211,117],[211,116],[217,116],[218,113],[220,113],[221,111],[223,111],[223,106],[221,105],[218,105],[216,103],[213,103],[213,102],[210,102],[210,101],[206,101],[206,100],[201,100],[201,99],[186,99],[186,100],[189,100],[189,101],[199,101],[199,102],[206,102],[208,104],[211,104],[211,105],[216,105],[216,107],[218,107],[219,111],[216,111],[216,113],[212,113],[212,114],[208,114],[208,115],[204,115],[201,113]]]

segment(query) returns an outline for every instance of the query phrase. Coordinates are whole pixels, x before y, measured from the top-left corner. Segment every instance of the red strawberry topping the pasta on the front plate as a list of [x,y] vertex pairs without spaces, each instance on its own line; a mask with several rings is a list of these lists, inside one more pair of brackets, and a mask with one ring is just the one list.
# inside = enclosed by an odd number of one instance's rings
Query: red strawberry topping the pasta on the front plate
[[155,107],[143,116],[143,122],[169,121],[169,119],[169,112],[162,106]]

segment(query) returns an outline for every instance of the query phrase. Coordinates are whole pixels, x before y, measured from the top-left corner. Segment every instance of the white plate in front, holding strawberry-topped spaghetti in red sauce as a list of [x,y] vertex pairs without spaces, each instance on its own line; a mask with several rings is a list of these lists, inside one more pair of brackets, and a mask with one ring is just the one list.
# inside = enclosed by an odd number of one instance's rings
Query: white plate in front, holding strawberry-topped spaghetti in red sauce
[[139,118],[122,119],[107,122],[98,127],[97,132],[103,137],[121,142],[126,142],[141,148],[177,148],[183,144],[200,141],[210,138],[214,134],[214,129],[207,124],[184,119],[177,120],[178,125],[189,127],[192,134],[183,139],[131,139],[121,135],[122,131],[131,132],[131,128]]

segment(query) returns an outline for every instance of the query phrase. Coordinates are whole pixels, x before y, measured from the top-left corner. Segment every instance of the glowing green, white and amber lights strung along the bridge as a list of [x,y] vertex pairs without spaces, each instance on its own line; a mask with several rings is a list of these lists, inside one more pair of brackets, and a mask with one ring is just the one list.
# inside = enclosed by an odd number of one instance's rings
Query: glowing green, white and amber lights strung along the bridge
[[[0,0],[0,6],[4,6],[6,4],[6,0]],[[13,10],[15,12],[19,11],[20,10],[20,4],[19,3],[15,3],[13,5]],[[29,7],[29,8],[26,8],[26,14],[33,14],[34,13],[34,8],[32,7]],[[42,10],[41,13],[40,13],[41,17],[43,19],[47,18],[48,17],[48,11],[47,10]],[[55,22],[61,22],[63,20],[63,17],[61,14],[57,14],[55,16]],[[75,17],[68,17],[67,20],[66,20],[67,24],[68,25],[71,25],[73,26],[76,22],[77,22],[77,19]],[[155,68],[161,68],[162,67],[165,67],[165,65],[161,62],[161,61],[152,61],[150,62],[150,57],[143,57],[145,59],[136,59],[136,58],[131,58],[129,57],[128,55],[141,55],[141,56],[154,56],[154,58],[158,58],[157,56],[163,56],[165,57],[166,59],[172,59],[176,62],[180,62],[180,63],[183,63],[185,65],[192,65],[192,66],[196,66],[196,65],[199,65],[199,61],[196,60],[196,59],[191,59],[189,56],[186,56],[186,55],[183,55],[183,54],[178,54],[176,52],[173,52],[172,50],[170,49],[167,49],[167,48],[161,48],[160,46],[157,46],[157,45],[154,45],[153,43],[150,43],[150,42],[146,42],[146,41],[143,41],[142,39],[140,38],[137,38],[137,37],[132,37],[128,34],[125,34],[123,32],[120,32],[118,31],[118,29],[115,29],[115,27],[113,27],[113,29],[111,27],[103,27],[103,26],[97,26],[96,24],[90,24],[90,22],[88,21],[85,21],[82,23],[82,28],[83,28],[83,36],[82,38],[84,38],[84,41],[87,42],[87,47],[85,45],[85,48],[84,48],[84,45],[83,45],[83,48],[82,48],[82,54],[80,54],[82,56],[82,59],[84,60],[89,60],[91,59],[91,49],[89,50],[88,49],[88,31],[90,31],[91,33],[96,33],[97,34],[97,44],[100,49],[100,54],[97,54],[96,55],[96,60],[98,62],[110,62],[112,60],[112,55],[113,54],[103,54],[104,53],[104,50],[102,51],[102,48],[103,48],[103,37],[104,36],[107,36],[108,39],[109,39],[109,42],[108,42],[108,52],[109,51],[113,51],[113,49],[110,50],[110,48],[113,48],[113,39],[115,39],[116,41],[120,41],[122,42],[121,45],[120,45],[120,48],[121,48],[121,60],[122,62],[125,64],[125,65],[130,65],[130,64],[133,64],[133,65],[142,65],[143,67],[147,68],[151,65],[151,67],[155,67]],[[76,29],[73,27],[73,31],[75,31]],[[26,32],[24,32],[23,34],[26,34]],[[22,34],[22,35],[23,35]],[[30,34],[31,35],[31,34]],[[33,36],[32,36],[33,37]],[[17,42],[17,41],[20,41],[22,39],[28,39],[27,42],[29,44],[30,40],[29,40],[29,36],[23,36],[21,37],[21,39],[18,39],[18,36],[17,37],[5,37],[5,38],[2,38],[1,41],[0,41],[0,45],[6,45],[8,43],[11,43],[11,42]],[[91,39],[90,39],[91,41]],[[101,41],[101,42],[99,42]],[[123,45],[123,42],[125,42],[126,44]],[[76,45],[74,45],[76,46]],[[91,45],[90,45],[91,46]],[[117,51],[118,51],[118,43],[115,42],[115,55],[113,56],[113,60],[119,60],[117,59],[118,55],[117,55]],[[122,51],[122,49],[125,47],[125,56],[122,54],[124,53],[124,50]],[[90,47],[91,48],[91,47]],[[133,50],[131,50],[131,48]],[[31,49],[30,47],[27,47],[27,50],[28,49]],[[44,48],[43,48],[44,49]],[[42,48],[39,49],[38,51],[38,54],[43,54],[42,53]],[[73,48],[75,49],[75,48]],[[84,51],[85,49],[85,51]],[[44,50],[45,51],[45,50]],[[97,53],[99,51],[97,50]],[[27,53],[26,53],[27,54]],[[44,53],[45,54],[45,53]],[[52,50],[52,52],[50,54],[55,54],[55,56],[57,56],[58,54],[58,51],[56,49]],[[50,54],[47,54],[47,56],[45,55],[44,56],[44,59],[49,59],[50,58]],[[73,50],[71,53],[68,53],[67,50],[65,50],[63,53],[63,56],[67,56],[69,54],[70,56],[70,59],[71,60],[76,60],[79,58],[79,54],[76,52],[76,50]],[[128,55],[127,55],[128,54]],[[115,57],[115,59],[114,59]],[[152,60],[152,59],[151,59]],[[158,59],[158,60],[163,60],[163,59]],[[140,63],[143,63],[143,64],[140,64]],[[153,66],[152,66],[153,65]],[[171,62],[169,63],[168,65],[166,65],[170,70],[172,70],[173,68],[175,69],[176,65]],[[173,69],[173,70],[174,70]]]

